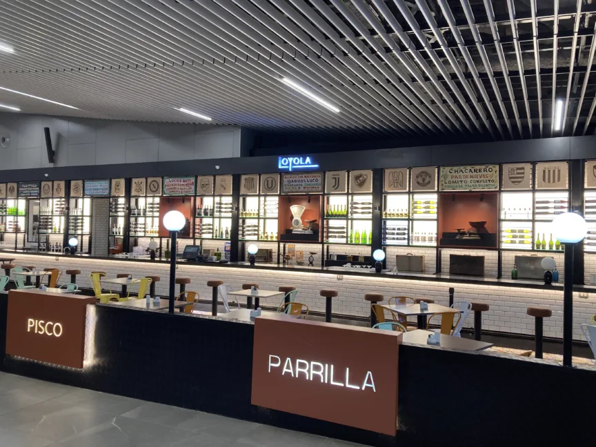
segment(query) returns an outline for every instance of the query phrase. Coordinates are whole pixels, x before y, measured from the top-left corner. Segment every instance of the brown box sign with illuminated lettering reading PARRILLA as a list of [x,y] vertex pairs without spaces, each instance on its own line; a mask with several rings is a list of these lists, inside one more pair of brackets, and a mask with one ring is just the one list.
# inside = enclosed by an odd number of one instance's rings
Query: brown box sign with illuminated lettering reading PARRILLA
[[395,436],[400,343],[391,330],[257,317],[251,403]]

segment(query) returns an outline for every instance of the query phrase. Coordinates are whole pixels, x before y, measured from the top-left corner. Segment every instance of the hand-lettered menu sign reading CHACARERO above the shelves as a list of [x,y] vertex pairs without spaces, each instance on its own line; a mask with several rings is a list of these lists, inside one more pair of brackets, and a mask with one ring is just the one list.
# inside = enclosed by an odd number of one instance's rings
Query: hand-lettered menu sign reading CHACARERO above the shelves
[[499,189],[499,165],[441,166],[439,190]]

